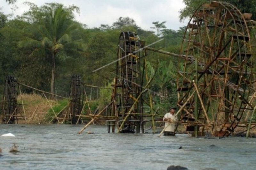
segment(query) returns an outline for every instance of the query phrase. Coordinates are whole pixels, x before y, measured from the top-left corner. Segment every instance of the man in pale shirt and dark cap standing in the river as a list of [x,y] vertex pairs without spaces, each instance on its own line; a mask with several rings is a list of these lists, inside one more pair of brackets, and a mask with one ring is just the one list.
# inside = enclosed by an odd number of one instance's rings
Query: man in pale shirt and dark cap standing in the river
[[[170,109],[170,112],[166,113],[164,115],[163,121],[177,121],[177,118],[174,116],[176,107],[172,107]],[[164,136],[175,136],[174,130],[176,128],[176,123],[169,123],[169,122],[165,122],[165,130],[164,130]]]

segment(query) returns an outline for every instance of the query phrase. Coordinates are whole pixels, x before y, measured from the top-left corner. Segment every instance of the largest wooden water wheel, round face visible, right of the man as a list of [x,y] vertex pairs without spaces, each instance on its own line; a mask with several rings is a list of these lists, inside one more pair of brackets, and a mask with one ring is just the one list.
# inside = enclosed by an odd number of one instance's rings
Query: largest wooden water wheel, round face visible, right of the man
[[187,130],[199,130],[200,135],[208,127],[212,135],[227,136],[245,110],[253,109],[248,102],[251,16],[231,4],[211,2],[201,5],[190,19],[177,78],[181,119],[192,125]]

